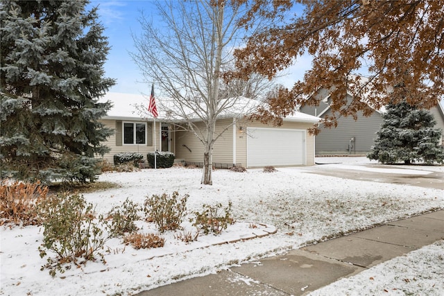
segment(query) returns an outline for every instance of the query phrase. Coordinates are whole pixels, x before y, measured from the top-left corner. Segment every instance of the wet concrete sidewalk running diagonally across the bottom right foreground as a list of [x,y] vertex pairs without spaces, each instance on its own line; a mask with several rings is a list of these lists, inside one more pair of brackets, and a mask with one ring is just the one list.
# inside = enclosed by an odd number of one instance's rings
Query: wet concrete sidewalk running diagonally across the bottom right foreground
[[137,295],[304,295],[443,238],[435,211]]

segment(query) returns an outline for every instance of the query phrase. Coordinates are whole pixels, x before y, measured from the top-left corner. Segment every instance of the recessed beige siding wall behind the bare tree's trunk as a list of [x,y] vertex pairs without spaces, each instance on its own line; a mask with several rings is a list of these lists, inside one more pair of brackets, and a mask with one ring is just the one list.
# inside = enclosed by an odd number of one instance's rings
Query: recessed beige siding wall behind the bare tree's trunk
[[[216,134],[222,133],[222,135],[214,143],[213,163],[233,163],[233,129],[230,127],[231,124],[232,119],[216,121]],[[227,127],[228,129],[223,131]],[[203,129],[203,123],[198,123],[198,128]],[[175,137],[176,159],[185,159],[186,162],[203,162],[205,147],[193,132],[177,131]]]

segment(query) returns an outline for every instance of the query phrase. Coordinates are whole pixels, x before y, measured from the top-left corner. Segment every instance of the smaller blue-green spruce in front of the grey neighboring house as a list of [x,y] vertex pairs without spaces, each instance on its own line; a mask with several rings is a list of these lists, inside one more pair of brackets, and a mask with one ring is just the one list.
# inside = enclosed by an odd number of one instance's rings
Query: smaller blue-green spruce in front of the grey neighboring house
[[443,163],[444,149],[439,144],[442,131],[434,128],[436,121],[428,110],[418,110],[402,101],[389,104],[382,119],[369,159],[383,164]]

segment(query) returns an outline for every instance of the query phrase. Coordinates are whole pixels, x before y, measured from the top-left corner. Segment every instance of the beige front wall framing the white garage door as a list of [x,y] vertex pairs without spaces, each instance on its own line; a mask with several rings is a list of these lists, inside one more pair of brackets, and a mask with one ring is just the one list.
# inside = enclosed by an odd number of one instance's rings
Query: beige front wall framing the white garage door
[[[259,122],[246,122],[246,125],[253,128],[276,128],[273,125],[266,125]],[[246,128],[243,128],[242,131],[239,131],[239,127],[241,124],[237,125],[237,137],[236,137],[236,145],[237,145],[237,159],[236,164],[242,164],[242,166],[246,166],[247,164],[247,138],[248,134],[246,134]],[[293,129],[293,130],[307,130],[313,127],[313,123],[298,123],[298,122],[288,122],[284,121],[284,123],[279,127],[283,129]],[[309,134],[309,132],[305,133],[305,164],[307,166],[314,165],[314,136]]]

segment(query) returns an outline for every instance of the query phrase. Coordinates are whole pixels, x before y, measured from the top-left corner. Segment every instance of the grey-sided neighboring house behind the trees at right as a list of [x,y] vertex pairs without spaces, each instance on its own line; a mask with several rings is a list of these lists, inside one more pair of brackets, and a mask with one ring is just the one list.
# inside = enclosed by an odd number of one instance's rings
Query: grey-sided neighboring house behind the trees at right
[[[321,99],[318,106],[302,106],[300,112],[324,118],[331,115],[330,95],[327,90],[322,89],[317,96]],[[348,101],[352,100],[352,95],[347,94]],[[377,137],[376,132],[382,124],[382,114],[384,110],[375,110],[371,116],[363,116],[358,113],[358,119],[352,116],[340,117],[336,128],[323,128],[315,139],[316,155],[366,155]],[[443,105],[438,105],[430,110],[436,120],[436,128],[441,128],[444,132],[444,109]]]

